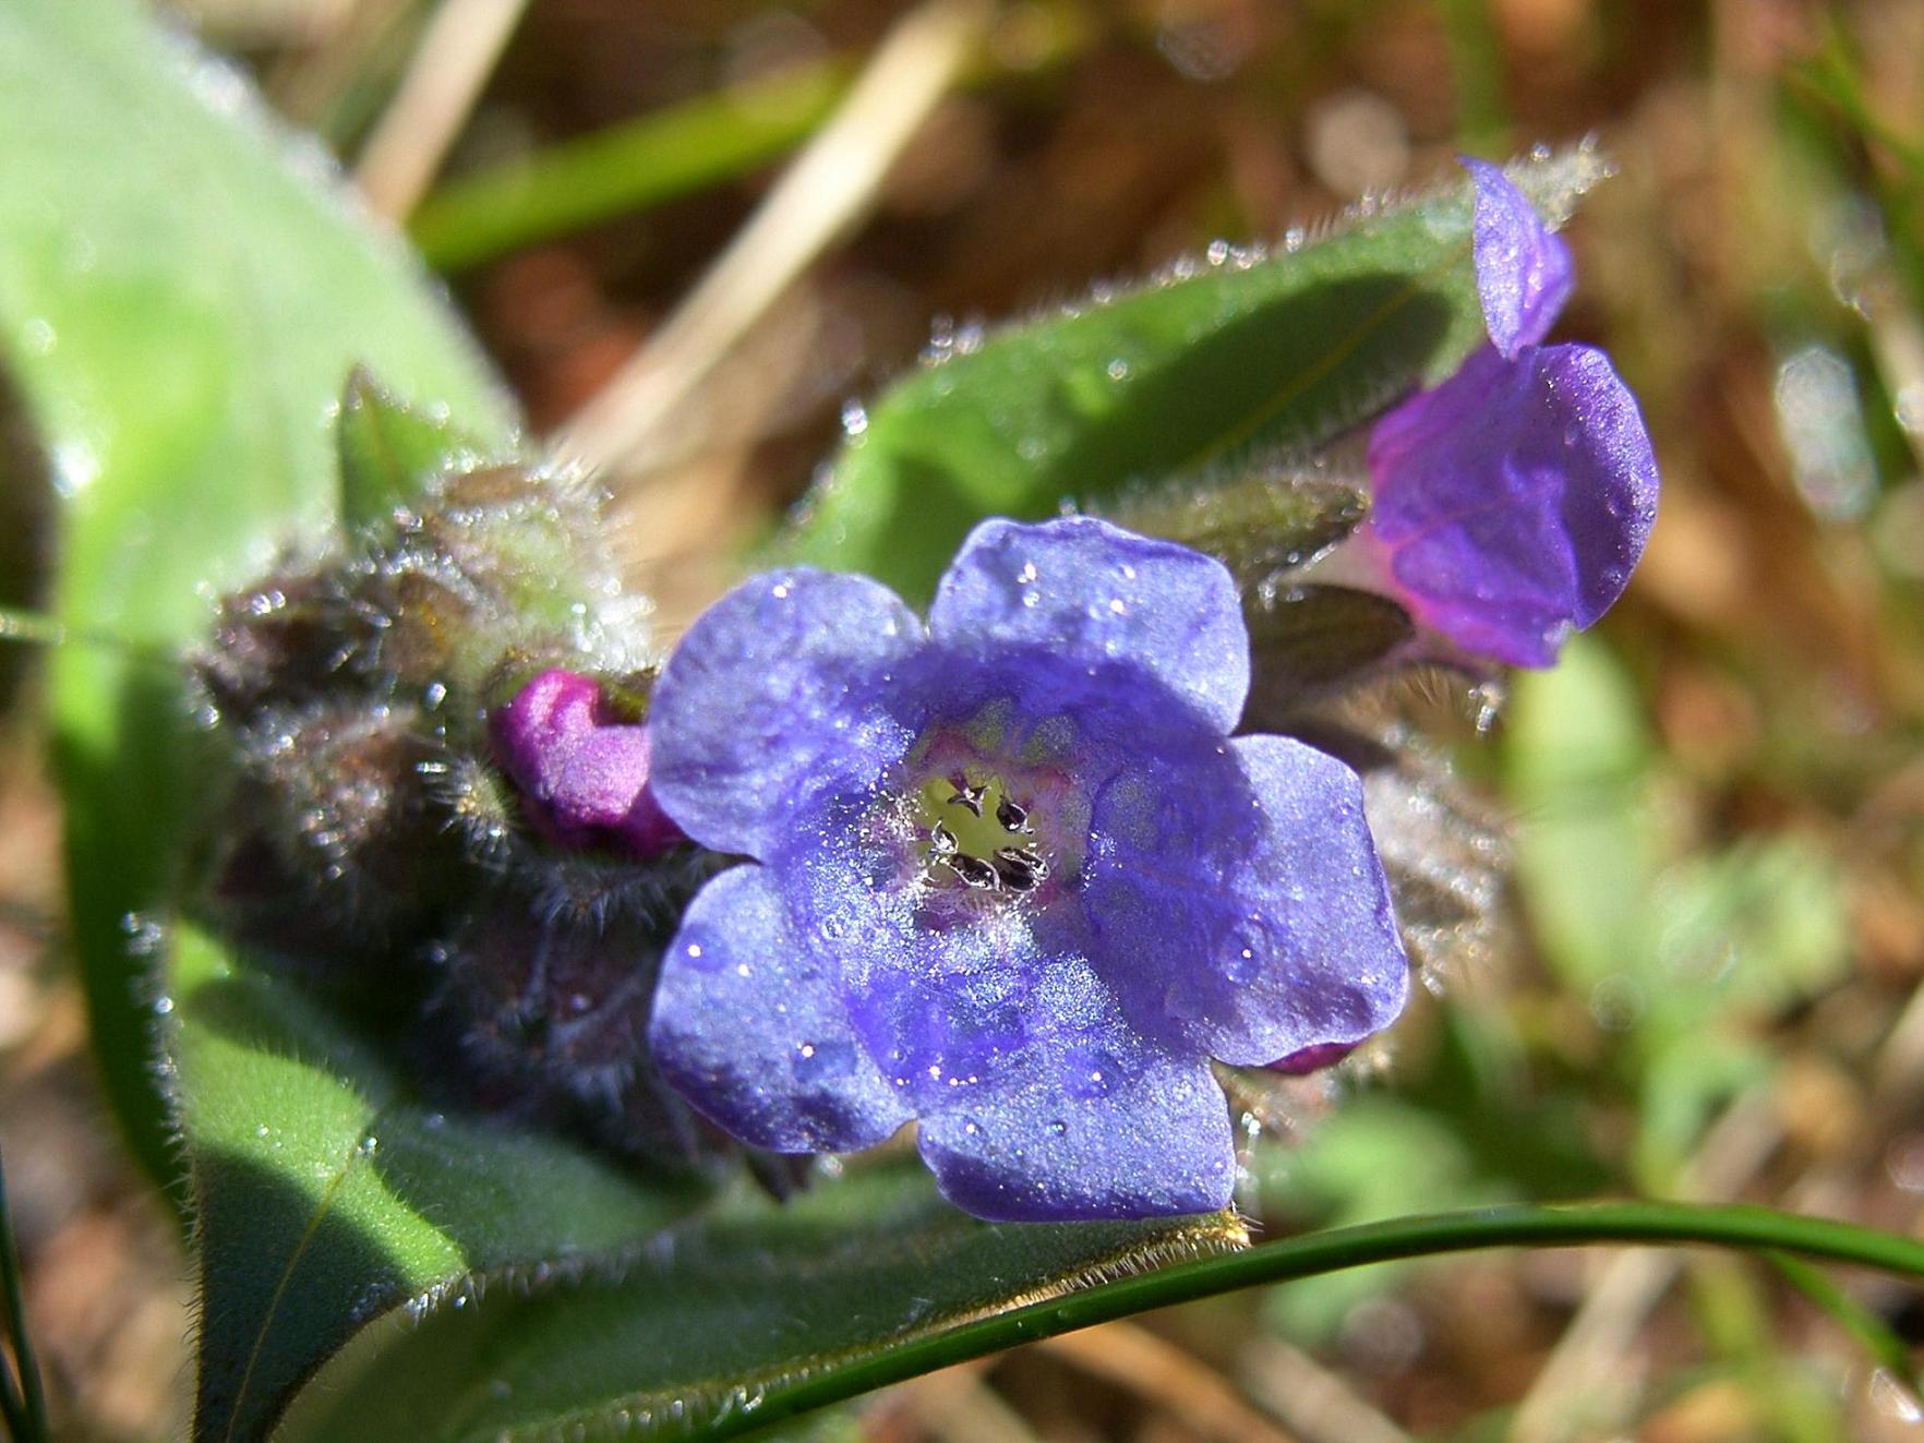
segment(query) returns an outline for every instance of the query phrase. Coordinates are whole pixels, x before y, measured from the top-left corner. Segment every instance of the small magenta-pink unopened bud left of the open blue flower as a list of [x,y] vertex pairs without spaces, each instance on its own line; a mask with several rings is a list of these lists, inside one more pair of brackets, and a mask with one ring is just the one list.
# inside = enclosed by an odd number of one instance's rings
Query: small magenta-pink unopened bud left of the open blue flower
[[489,716],[489,729],[521,810],[548,841],[635,858],[685,841],[648,785],[648,729],[616,718],[593,677],[543,671]]

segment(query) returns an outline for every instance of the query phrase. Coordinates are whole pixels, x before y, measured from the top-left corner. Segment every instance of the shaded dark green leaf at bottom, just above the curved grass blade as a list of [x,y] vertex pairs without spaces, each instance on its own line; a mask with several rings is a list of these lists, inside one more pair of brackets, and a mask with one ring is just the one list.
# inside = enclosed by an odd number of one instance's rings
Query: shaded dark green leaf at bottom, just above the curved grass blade
[[673,1437],[752,1420],[829,1362],[1243,1243],[1229,1214],[991,1226],[920,1166],[875,1166],[781,1206],[737,1199],[616,1276],[491,1289],[389,1329],[371,1362],[323,1374],[285,1437]]

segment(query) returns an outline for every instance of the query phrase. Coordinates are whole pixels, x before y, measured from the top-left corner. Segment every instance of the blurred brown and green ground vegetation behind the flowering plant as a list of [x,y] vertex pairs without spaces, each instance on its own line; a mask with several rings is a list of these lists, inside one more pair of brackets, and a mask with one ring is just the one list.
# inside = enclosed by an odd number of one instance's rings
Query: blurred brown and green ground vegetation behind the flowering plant
[[[546,431],[675,335],[908,8],[165,10],[414,229]],[[1310,1228],[1651,1193],[1916,1231],[1924,6],[1029,0],[985,8],[983,33],[841,239],[621,448],[623,550],[664,623],[725,585],[845,404],[931,337],[1314,225],[1458,150],[1595,131],[1620,175],[1572,229],[1558,335],[1607,346],[1641,396],[1662,516],[1628,600],[1557,671],[1516,679],[1487,737],[1487,698],[1428,695],[1512,827],[1516,925],[1439,941],[1449,985],[1378,1081],[1264,1120],[1301,1145],[1262,1154],[1253,1201]],[[31,437],[6,446],[31,477]],[[6,506],[0,581],[31,600],[42,506],[29,485]],[[185,1268],[92,1091],[23,681],[0,773],[0,1135],[31,1322],[69,1435],[165,1437]],[[1924,1308],[1845,1281],[1655,1253],[1374,1270],[929,1378],[862,1430],[1909,1437]]]

